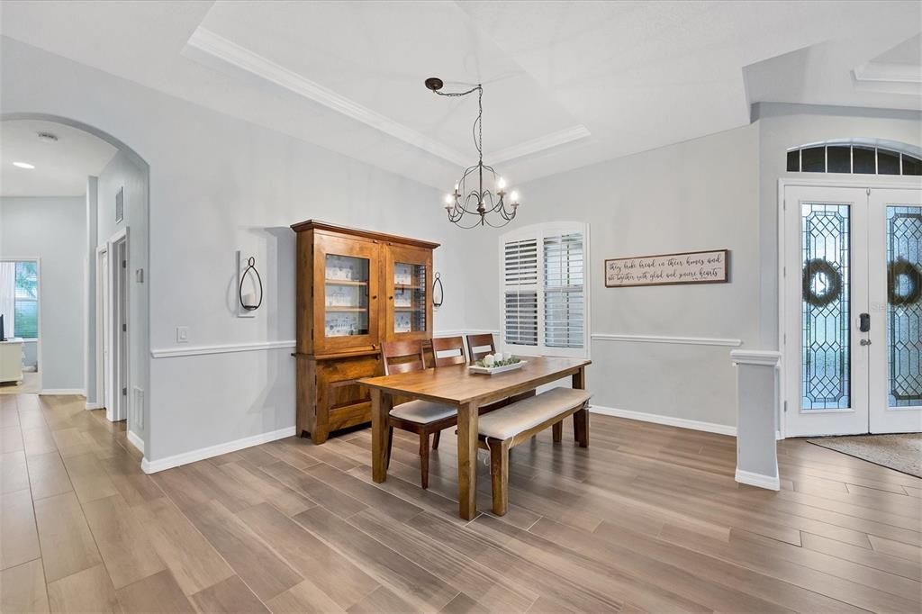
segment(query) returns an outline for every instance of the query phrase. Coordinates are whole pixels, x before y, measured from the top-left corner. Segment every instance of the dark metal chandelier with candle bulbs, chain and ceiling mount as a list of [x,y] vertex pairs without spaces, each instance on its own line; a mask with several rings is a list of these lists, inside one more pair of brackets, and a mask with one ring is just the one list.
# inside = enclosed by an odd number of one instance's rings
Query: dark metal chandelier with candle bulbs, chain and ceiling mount
[[[493,171],[493,167],[483,163],[483,86],[477,84],[477,87],[467,91],[443,92],[440,91],[443,85],[442,79],[438,77],[426,79],[426,87],[439,96],[457,98],[476,91],[478,106],[477,119],[474,120],[472,128],[474,146],[478,154],[477,164],[467,167],[460,181],[455,183],[454,192],[445,195],[448,220],[465,229],[484,225],[493,228],[505,226],[515,217],[515,210],[519,206],[518,193],[512,192],[509,195],[511,202],[507,206],[505,180]],[[485,179],[488,182],[486,186]]]

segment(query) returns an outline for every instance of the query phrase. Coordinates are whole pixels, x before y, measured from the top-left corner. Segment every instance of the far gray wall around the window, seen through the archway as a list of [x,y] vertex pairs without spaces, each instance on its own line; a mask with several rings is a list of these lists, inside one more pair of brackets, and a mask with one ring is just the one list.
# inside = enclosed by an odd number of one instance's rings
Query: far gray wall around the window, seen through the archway
[[83,389],[86,203],[0,198],[0,258],[38,257],[41,387]]

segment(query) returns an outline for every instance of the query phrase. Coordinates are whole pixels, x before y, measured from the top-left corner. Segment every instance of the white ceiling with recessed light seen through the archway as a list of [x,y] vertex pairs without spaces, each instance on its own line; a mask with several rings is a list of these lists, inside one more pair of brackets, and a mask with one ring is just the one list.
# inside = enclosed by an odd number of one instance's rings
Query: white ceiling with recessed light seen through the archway
[[[40,132],[58,137],[39,138]],[[0,196],[82,196],[117,149],[77,128],[36,120],[0,122]],[[26,162],[33,170],[13,162]]]

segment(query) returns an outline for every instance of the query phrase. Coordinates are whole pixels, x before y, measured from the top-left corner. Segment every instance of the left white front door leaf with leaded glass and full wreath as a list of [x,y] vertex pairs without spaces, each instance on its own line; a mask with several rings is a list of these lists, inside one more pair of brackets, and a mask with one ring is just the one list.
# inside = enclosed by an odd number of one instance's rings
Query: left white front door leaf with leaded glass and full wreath
[[866,188],[786,186],[785,434],[868,432]]

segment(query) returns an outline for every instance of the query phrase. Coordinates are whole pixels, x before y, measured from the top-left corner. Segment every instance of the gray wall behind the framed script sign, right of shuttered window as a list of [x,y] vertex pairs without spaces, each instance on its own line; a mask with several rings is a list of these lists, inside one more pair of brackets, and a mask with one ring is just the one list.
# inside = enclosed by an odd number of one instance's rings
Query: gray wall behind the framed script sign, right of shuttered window
[[[589,222],[593,334],[748,346],[759,338],[758,156],[758,126],[749,125],[554,175],[522,187],[516,223]],[[724,248],[731,283],[605,288],[606,258]],[[498,313],[495,294],[491,305]],[[593,403],[732,426],[729,349],[593,340]]]

